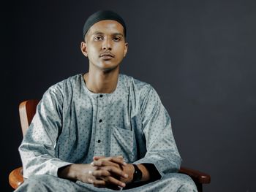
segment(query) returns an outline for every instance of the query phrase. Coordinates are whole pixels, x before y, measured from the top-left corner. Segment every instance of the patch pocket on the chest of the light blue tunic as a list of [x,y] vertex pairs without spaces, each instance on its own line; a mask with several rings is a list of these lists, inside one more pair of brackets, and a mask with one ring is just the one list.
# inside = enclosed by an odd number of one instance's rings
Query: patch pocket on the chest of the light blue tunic
[[110,156],[123,155],[124,161],[132,163],[137,159],[137,147],[133,131],[112,126]]

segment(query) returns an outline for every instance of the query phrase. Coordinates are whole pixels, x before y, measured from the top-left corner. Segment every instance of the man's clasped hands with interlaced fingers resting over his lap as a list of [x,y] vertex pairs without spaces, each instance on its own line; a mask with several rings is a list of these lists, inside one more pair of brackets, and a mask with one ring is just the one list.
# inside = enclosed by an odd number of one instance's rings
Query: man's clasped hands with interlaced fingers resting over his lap
[[86,174],[81,175],[81,181],[91,183],[98,188],[124,188],[132,182],[135,172],[132,164],[124,162],[122,156],[102,157],[95,156],[91,164],[87,164]]

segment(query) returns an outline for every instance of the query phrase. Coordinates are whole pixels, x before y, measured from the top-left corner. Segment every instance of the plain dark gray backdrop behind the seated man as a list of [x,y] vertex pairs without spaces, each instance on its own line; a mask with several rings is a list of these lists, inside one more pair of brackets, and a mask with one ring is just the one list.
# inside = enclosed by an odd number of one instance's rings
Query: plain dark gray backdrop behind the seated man
[[1,5],[1,191],[20,166],[18,104],[86,72],[86,18],[113,9],[127,22],[121,72],[151,83],[205,191],[256,191],[255,1],[11,1]]

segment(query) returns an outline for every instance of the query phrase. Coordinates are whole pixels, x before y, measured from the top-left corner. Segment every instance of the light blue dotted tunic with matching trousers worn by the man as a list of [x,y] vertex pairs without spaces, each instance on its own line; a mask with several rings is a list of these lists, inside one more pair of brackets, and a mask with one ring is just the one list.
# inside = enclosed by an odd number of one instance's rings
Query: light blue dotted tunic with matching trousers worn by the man
[[37,177],[53,191],[111,191],[57,177],[60,167],[89,164],[94,155],[123,155],[127,163],[154,164],[161,180],[139,191],[196,190],[189,177],[176,173],[181,158],[157,92],[124,74],[119,74],[113,93],[91,93],[83,74],[51,86],[37,106],[19,151],[24,177],[30,180],[20,191],[29,191],[31,185],[37,188],[38,182],[33,184]]

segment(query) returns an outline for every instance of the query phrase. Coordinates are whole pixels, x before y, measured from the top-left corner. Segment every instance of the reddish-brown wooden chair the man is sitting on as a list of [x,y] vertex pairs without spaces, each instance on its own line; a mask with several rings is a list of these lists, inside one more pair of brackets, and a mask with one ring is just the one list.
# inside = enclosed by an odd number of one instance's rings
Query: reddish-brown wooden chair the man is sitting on
[[[26,130],[29,128],[29,124],[31,123],[32,118],[34,117],[34,114],[37,109],[37,104],[39,100],[28,100],[23,101],[20,103],[19,106],[19,112],[20,112],[20,123],[22,128],[23,136],[26,134]],[[179,170],[180,173],[187,174],[190,177],[192,177],[192,180],[194,180],[195,184],[197,185],[197,190],[203,191],[203,184],[210,183],[211,177],[210,175],[198,172],[197,170],[188,169],[181,166],[181,169]],[[23,183],[23,168],[19,167],[15,170],[13,170],[9,174],[9,183],[12,186],[12,188],[18,188],[19,185]]]

